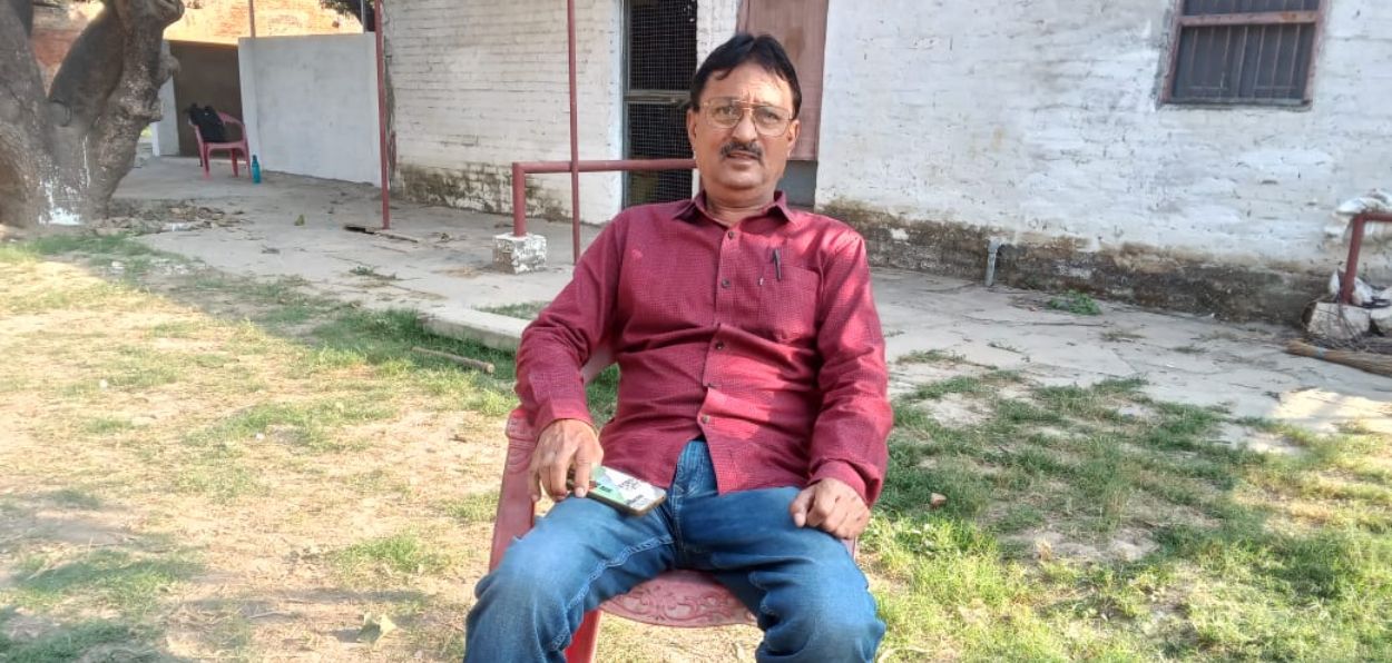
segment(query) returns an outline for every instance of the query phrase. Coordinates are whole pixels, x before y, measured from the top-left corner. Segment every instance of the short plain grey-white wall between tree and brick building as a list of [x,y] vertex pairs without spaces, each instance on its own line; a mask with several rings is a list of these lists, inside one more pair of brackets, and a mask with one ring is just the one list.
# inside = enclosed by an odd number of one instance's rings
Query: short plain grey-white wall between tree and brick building
[[242,38],[242,114],[267,171],[380,183],[372,33]]

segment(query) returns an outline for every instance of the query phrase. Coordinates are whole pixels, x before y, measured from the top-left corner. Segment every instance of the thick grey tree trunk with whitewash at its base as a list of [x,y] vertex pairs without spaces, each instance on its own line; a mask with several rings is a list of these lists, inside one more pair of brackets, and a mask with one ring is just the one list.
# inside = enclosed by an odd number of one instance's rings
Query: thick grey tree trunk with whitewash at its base
[[29,3],[0,0],[0,222],[81,225],[106,215],[141,131],[160,118],[177,67],[160,43],[184,4],[103,0],[45,95]]

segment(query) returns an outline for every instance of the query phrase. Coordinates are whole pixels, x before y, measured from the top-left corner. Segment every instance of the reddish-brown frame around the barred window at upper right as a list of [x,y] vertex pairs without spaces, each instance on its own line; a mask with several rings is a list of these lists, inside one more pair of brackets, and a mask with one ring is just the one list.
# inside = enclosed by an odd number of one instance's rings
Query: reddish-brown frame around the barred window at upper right
[[[1173,19],[1169,29],[1169,54],[1165,57],[1165,79],[1160,90],[1161,106],[1178,106],[1189,108],[1235,108],[1235,107],[1274,107],[1304,110],[1314,104],[1315,71],[1320,68],[1320,51],[1324,43],[1325,13],[1332,0],[1320,0],[1315,10],[1302,11],[1254,11],[1243,14],[1203,14],[1185,15],[1186,0],[1175,0]],[[1310,67],[1306,69],[1304,95],[1302,99],[1176,99],[1175,82],[1179,75],[1179,43],[1187,28],[1211,26],[1253,26],[1253,25],[1310,25],[1314,29],[1314,40],[1310,44]]]

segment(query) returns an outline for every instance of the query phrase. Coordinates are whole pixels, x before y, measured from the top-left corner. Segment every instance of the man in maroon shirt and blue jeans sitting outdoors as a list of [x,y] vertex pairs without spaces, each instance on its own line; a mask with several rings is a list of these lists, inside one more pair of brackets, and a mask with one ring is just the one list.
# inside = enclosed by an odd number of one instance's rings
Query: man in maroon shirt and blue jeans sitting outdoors
[[[522,335],[532,496],[557,503],[479,581],[465,660],[561,662],[586,612],[670,568],[749,607],[759,660],[873,660],[884,624],[842,539],[884,480],[884,336],[864,240],[775,190],[800,106],[775,39],[715,49],[686,111],[702,193],[615,217]],[[596,434],[580,368],[601,346],[621,377]],[[601,463],[667,500],[585,499]]]

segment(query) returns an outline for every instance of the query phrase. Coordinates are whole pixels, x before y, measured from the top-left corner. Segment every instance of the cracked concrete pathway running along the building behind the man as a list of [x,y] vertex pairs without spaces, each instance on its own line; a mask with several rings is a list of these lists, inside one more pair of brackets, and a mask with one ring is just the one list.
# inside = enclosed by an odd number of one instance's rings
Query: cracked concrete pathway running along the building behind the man
[[[550,265],[509,275],[490,265],[491,236],[508,232],[511,217],[393,202],[393,229],[422,242],[354,234],[344,224],[380,225],[374,188],[280,174],[252,185],[223,165],[205,181],[196,160],[155,158],[127,177],[117,199],[155,213],[203,206],[239,220],[143,236],[153,247],[232,274],[298,277],[313,290],[367,307],[415,309],[504,345],[522,324],[477,309],[550,300],[569,278],[568,224],[530,221],[529,229],[547,236]],[[596,232],[586,227],[583,240]],[[395,278],[363,274],[369,270]],[[1392,434],[1392,378],[1286,354],[1282,347],[1296,329],[1107,302],[1102,316],[1083,317],[1050,310],[1050,296],[1040,292],[894,270],[876,270],[874,278],[891,361],[944,350],[1051,385],[1141,377],[1146,391],[1164,400],[1225,404],[1237,417],[1315,429],[1361,421]],[[895,366],[894,386],[933,379],[941,370]]]

